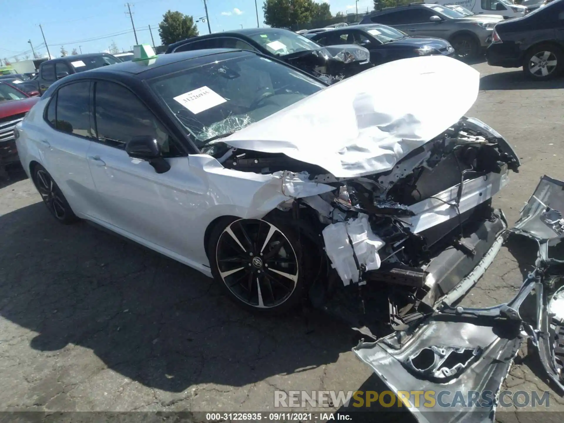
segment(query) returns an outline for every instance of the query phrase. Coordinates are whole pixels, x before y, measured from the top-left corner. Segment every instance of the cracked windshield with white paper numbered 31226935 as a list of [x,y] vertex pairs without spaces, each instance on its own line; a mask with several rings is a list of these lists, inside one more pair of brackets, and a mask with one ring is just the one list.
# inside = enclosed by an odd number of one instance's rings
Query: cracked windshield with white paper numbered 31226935
[[149,85],[198,147],[324,87],[303,73],[254,54],[168,74]]

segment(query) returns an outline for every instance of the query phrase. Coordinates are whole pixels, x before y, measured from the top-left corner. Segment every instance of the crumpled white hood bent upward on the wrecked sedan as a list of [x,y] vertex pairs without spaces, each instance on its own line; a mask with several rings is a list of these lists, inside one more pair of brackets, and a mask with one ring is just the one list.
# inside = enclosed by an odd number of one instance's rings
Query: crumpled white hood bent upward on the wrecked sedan
[[[456,94],[444,95],[440,87],[450,86]],[[380,173],[455,124],[474,104],[478,87],[479,72],[456,59],[396,60],[316,92],[223,142],[284,153],[335,177]]]

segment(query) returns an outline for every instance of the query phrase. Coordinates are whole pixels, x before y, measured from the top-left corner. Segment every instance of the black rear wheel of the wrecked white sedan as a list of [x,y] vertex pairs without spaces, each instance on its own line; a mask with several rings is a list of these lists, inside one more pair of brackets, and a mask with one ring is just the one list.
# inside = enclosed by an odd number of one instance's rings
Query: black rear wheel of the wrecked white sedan
[[47,206],[47,210],[55,219],[63,224],[78,221],[59,186],[43,166],[36,165],[33,169],[33,182]]

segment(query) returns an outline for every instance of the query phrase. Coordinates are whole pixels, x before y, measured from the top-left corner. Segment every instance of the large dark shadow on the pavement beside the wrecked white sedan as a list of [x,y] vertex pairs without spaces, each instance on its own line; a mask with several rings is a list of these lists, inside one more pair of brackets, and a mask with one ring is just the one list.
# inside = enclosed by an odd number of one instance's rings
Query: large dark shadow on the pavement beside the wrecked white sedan
[[0,239],[0,315],[69,367],[88,365],[65,348],[80,345],[180,392],[319,367],[354,345],[350,328],[316,311],[253,316],[199,272],[89,224],[60,225],[41,202],[1,216]]

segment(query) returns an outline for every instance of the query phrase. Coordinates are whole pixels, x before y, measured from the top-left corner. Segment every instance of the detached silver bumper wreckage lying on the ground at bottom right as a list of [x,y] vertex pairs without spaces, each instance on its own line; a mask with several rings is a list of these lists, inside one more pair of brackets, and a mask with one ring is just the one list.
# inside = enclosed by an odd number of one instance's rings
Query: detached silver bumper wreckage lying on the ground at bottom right
[[[564,261],[552,258],[549,247],[562,237],[564,182],[541,178],[530,200],[521,210],[521,218],[508,230],[524,235],[538,245],[535,269],[527,275],[519,292],[508,303],[474,308],[454,306],[460,297],[451,290],[435,303],[435,312],[417,324],[406,325],[376,342],[361,341],[353,350],[372,367],[378,377],[396,394],[402,391],[447,390],[453,402],[457,391],[479,391],[481,395],[467,403],[467,397],[450,407],[417,407],[404,401],[420,422],[493,421],[501,384],[523,341],[530,337],[539,349],[540,360],[548,376],[564,394]],[[500,239],[492,248],[499,249]],[[485,254],[475,268],[480,271],[491,262]],[[473,274],[468,285],[474,283]],[[536,321],[526,321],[519,307],[534,290]],[[406,395],[403,395],[406,398]]]

